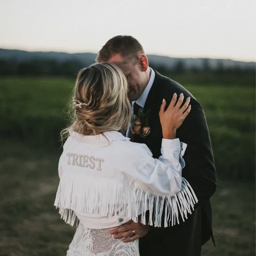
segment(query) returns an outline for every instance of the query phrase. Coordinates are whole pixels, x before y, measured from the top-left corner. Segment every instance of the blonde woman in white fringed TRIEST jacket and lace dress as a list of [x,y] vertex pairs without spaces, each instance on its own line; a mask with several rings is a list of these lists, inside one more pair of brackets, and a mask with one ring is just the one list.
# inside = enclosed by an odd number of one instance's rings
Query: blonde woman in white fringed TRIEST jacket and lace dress
[[131,119],[127,91],[126,77],[114,64],[93,64],[78,73],[73,121],[62,131],[67,140],[54,202],[66,223],[79,222],[68,256],[139,256],[138,239],[125,243],[110,231],[130,220],[156,227],[179,224],[178,217],[184,220],[197,202],[182,178],[186,144],[176,138],[190,99],[181,107],[174,95],[167,109],[163,100],[162,156],[154,159],[145,144],[123,136]]

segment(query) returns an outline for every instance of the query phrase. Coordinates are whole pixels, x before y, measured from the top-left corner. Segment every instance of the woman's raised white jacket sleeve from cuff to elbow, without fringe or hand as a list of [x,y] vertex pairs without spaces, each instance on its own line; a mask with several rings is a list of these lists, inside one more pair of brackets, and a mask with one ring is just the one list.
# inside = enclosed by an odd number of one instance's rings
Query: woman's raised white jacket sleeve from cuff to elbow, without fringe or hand
[[[186,144],[179,139],[162,139],[162,148],[158,159],[152,157],[145,144],[138,144],[140,164],[133,173],[134,184],[150,193],[172,195],[182,188],[182,168],[185,166],[182,156]],[[181,150],[182,148],[182,150]]]

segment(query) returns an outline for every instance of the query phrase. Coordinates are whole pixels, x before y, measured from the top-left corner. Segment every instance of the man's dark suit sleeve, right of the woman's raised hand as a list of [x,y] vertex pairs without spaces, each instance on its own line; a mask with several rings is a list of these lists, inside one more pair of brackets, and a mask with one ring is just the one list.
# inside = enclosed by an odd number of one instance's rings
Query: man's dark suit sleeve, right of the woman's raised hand
[[177,138],[188,144],[182,176],[188,180],[200,203],[214,194],[217,183],[204,110],[196,100],[193,101],[190,113],[177,131]]

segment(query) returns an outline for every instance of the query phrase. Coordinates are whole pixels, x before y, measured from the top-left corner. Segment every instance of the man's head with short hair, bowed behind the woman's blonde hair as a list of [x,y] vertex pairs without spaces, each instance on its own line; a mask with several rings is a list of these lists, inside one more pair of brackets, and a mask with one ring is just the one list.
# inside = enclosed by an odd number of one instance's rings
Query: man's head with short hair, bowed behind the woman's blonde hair
[[130,101],[137,100],[148,84],[148,58],[142,45],[132,36],[114,36],[108,40],[96,61],[113,62],[123,70],[128,80]]

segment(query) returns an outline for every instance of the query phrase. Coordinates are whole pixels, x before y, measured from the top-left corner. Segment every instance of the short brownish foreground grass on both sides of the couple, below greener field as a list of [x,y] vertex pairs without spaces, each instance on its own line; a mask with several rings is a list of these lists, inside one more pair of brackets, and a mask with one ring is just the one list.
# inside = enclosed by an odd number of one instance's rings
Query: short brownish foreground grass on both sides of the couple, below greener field
[[[63,256],[75,232],[53,206],[60,150],[2,140],[0,148],[0,255]],[[218,181],[212,197],[217,247],[203,256],[255,255],[255,186]]]

